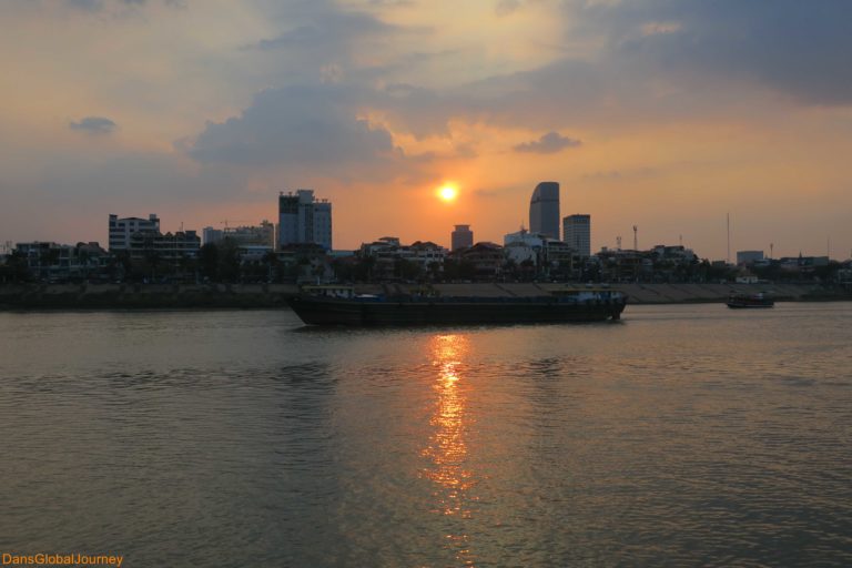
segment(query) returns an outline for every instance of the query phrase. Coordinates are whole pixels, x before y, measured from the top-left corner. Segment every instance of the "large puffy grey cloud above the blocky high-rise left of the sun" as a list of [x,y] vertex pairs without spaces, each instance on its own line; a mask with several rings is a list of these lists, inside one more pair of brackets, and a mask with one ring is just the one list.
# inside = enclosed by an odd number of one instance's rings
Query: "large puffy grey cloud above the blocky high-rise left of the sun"
[[207,123],[189,154],[203,163],[283,165],[316,173],[402,159],[390,133],[358,118],[354,94],[334,84],[264,91],[240,116]]

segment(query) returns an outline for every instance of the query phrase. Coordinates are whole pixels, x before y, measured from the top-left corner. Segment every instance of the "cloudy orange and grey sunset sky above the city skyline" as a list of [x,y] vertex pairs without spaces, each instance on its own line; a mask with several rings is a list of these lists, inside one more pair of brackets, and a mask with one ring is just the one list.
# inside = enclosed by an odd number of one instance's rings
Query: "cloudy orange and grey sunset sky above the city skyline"
[[[540,181],[592,250],[852,254],[848,0],[2,0],[0,243],[333,202],[334,246],[503,242]],[[454,183],[453,203],[436,190]]]

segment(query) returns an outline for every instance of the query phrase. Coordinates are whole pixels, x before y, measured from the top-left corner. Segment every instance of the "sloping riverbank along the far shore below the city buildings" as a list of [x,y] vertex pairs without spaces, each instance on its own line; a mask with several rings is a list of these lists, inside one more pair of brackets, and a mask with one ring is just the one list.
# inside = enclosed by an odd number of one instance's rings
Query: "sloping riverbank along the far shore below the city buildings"
[[[367,284],[358,293],[406,293],[417,286]],[[536,296],[585,284],[435,284],[443,296]],[[732,292],[771,292],[781,302],[845,301],[852,295],[805,284],[611,284],[630,304],[723,302]],[[295,284],[29,284],[0,286],[0,310],[275,308]]]

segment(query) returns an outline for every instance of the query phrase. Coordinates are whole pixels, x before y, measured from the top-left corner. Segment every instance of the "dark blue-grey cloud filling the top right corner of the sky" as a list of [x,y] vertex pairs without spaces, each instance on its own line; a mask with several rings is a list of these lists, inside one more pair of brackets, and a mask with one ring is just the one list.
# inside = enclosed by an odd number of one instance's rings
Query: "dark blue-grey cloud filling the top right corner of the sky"
[[[759,82],[808,103],[852,102],[848,0],[647,0],[567,6],[611,54],[655,74]],[[575,29],[575,31],[577,28]]]

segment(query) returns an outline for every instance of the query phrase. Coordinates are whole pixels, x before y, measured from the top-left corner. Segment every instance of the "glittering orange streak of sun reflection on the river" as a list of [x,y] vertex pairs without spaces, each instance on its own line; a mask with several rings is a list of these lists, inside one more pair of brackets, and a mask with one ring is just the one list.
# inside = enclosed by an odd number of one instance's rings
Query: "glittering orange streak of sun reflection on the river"
[[[432,435],[429,445],[422,455],[429,459],[430,466],[422,474],[434,481],[436,489],[433,513],[455,517],[470,518],[470,504],[476,500],[469,495],[475,485],[474,473],[467,467],[468,447],[466,433],[469,418],[465,410],[467,397],[462,373],[468,351],[468,339],[464,335],[436,335],[430,339],[433,365],[437,377],[433,384],[435,407],[429,425]],[[464,565],[473,565],[469,538],[463,526],[454,523],[457,530],[447,535],[448,545],[457,548],[456,557]]]

